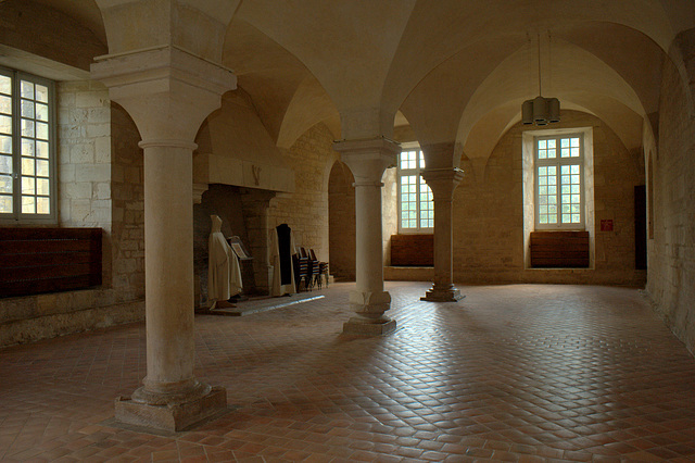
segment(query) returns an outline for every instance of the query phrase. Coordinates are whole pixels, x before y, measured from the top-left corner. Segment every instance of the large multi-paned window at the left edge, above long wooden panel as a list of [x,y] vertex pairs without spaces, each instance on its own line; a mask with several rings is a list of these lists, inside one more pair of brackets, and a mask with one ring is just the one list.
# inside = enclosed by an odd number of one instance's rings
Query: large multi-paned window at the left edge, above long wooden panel
[[0,68],[0,218],[52,221],[54,87]]

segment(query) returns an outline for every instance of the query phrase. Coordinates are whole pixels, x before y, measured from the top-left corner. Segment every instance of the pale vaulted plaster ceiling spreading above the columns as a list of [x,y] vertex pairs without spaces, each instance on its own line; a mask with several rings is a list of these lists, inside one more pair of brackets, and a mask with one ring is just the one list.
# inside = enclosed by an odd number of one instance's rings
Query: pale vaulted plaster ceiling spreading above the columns
[[[105,40],[96,1],[37,1]],[[641,118],[658,111],[662,63],[686,77],[671,51],[678,33],[695,27],[692,0],[179,1],[224,26],[223,64],[276,143],[291,145],[317,122],[337,138],[389,136],[400,110],[421,141],[468,145],[473,158],[538,93],[535,37],[551,37],[542,41],[544,93],[605,117],[631,147]]]

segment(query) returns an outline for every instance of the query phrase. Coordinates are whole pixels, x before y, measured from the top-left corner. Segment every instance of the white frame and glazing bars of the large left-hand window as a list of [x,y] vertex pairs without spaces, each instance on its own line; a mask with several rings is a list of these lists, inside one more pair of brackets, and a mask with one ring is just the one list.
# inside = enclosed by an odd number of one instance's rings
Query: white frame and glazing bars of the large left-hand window
[[[56,137],[56,105],[58,98],[55,92],[55,83],[51,79],[43,78],[34,74],[25,73],[18,70],[12,70],[9,67],[0,66],[0,76],[7,76],[12,79],[12,212],[0,213],[0,224],[21,224],[21,225],[54,225],[58,223],[58,137]],[[45,86],[48,89],[48,182],[49,182],[49,210],[48,214],[38,213],[25,213],[22,212],[22,139],[27,138],[22,135],[22,82],[30,82],[34,85]],[[4,95],[4,93],[3,93]],[[36,109],[36,97],[33,100]],[[33,117],[34,122],[37,121],[36,113]],[[36,132],[31,137],[34,141],[37,140]],[[36,155],[34,157],[36,159]],[[33,176],[37,178],[36,175]],[[35,195],[37,190],[35,187]],[[42,196],[42,195],[40,195]]]

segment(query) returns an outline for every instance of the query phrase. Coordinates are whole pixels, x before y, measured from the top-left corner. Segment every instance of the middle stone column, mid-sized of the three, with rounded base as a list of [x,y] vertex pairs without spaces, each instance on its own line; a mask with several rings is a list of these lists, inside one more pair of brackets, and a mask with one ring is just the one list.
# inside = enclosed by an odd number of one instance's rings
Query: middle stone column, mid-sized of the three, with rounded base
[[343,333],[387,334],[395,329],[395,321],[384,315],[391,306],[391,295],[383,290],[381,177],[395,164],[401,147],[372,138],[340,141],[333,148],[355,177],[356,284],[349,297],[355,316],[343,325]]

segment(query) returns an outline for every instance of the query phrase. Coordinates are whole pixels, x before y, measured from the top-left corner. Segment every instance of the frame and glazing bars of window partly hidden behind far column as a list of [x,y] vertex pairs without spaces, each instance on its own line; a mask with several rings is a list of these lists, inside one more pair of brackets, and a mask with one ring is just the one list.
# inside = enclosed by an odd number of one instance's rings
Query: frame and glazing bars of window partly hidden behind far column
[[[402,168],[402,159],[401,155],[403,153],[406,152],[412,152],[415,151],[416,154],[416,167],[415,168]],[[420,165],[420,162],[422,163],[422,165]],[[434,199],[432,197],[432,190],[429,188],[429,186],[427,185],[427,183],[425,182],[425,179],[422,178],[422,171],[425,171],[425,159],[422,155],[422,150],[420,149],[419,143],[414,142],[414,143],[403,143],[401,146],[401,153],[399,153],[397,157],[397,163],[396,163],[396,178],[397,178],[397,198],[396,198],[396,203],[397,203],[397,211],[399,211],[399,235],[431,235],[434,233]],[[404,227],[403,226],[403,209],[402,209],[402,200],[403,200],[403,192],[402,192],[402,179],[405,176],[415,176],[416,177],[416,223],[417,226],[416,227]],[[421,210],[421,193],[422,191],[420,190],[421,186],[425,185],[427,188],[427,192],[429,193],[430,200],[431,201],[431,209],[428,210]],[[429,212],[431,213],[430,216],[428,217],[422,217],[421,214],[422,212]],[[431,224],[431,226],[429,227],[422,227],[421,225],[421,221],[422,220],[427,220],[429,221],[429,223]]]

